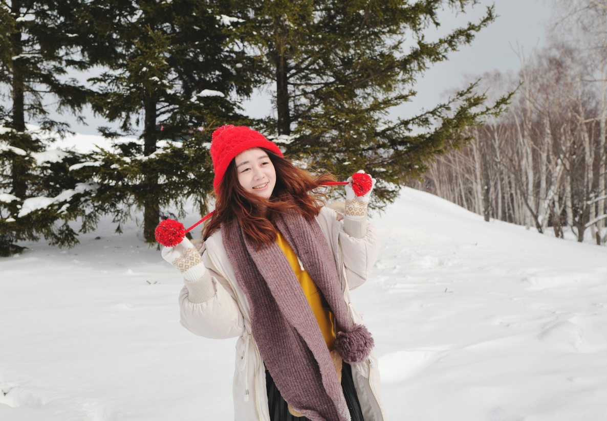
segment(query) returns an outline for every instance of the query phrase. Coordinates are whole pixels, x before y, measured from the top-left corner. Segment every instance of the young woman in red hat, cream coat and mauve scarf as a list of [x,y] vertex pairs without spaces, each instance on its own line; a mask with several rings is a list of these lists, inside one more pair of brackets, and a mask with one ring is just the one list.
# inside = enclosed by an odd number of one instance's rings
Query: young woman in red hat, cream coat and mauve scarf
[[[346,186],[345,215],[313,178],[248,127],[212,136],[215,213],[196,249],[162,255],[183,273],[181,325],[238,337],[237,421],[384,421],[373,339],[350,303],[378,255],[368,192]],[[375,180],[373,180],[375,183]]]

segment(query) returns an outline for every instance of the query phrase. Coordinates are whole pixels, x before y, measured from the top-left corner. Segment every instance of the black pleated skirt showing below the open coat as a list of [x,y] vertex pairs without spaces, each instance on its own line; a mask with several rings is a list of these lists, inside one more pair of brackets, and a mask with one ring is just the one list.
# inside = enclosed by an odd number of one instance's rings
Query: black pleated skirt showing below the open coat
[[[271,421],[310,421],[306,417],[294,417],[291,415],[287,402],[283,399],[276,384],[274,384],[274,379],[272,379],[270,372],[267,370],[266,388],[268,389],[268,406],[270,407]],[[352,368],[350,364],[345,362],[342,365],[342,390],[344,391],[345,402],[348,404],[352,421],[364,421],[362,419],[361,403],[358,402],[356,389],[354,389]]]

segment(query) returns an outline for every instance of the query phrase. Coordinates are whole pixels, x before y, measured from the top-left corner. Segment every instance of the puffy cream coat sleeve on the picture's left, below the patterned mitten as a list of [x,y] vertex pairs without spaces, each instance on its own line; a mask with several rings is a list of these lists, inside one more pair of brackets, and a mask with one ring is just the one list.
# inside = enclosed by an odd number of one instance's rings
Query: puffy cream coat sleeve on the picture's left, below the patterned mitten
[[188,298],[188,288],[184,286],[179,294],[181,325],[206,338],[225,339],[240,336],[245,331],[245,320],[234,291],[222,275],[209,268],[211,264],[206,251],[202,257],[211,275],[214,295],[203,303],[192,303]]

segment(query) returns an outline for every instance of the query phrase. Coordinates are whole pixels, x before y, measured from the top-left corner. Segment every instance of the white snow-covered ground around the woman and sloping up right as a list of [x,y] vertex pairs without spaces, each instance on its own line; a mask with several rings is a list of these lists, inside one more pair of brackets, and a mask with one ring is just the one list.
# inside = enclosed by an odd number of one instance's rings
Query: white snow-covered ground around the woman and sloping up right
[[[607,248],[412,189],[374,223],[353,296],[388,419],[607,419]],[[183,329],[178,272],[113,231],[0,260],[0,420],[233,419],[234,340]]]

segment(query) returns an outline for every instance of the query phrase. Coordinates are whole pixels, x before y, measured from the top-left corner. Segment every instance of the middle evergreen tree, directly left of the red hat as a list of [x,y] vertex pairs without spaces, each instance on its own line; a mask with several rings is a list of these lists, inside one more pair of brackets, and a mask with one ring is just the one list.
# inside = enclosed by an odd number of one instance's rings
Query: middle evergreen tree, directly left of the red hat
[[[91,63],[101,57],[98,62],[109,67],[90,79],[97,90],[93,110],[118,121],[122,133],[141,132],[138,140],[95,153],[91,159],[98,166],[75,171],[100,182],[95,203],[115,221],[126,220],[132,206],[143,209],[149,243],[158,221],[169,216],[163,210],[169,204],[183,210],[184,200],[194,196],[205,212],[212,191],[210,133],[222,124],[248,121],[232,95],[251,93],[255,63],[242,50],[226,47],[239,24],[228,16],[228,6],[203,0],[98,1],[86,19],[79,18],[87,21],[83,31],[93,39],[84,55]],[[123,14],[112,21],[98,12],[115,8]]]

